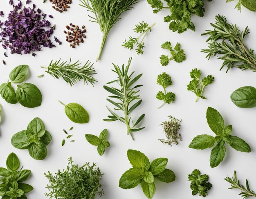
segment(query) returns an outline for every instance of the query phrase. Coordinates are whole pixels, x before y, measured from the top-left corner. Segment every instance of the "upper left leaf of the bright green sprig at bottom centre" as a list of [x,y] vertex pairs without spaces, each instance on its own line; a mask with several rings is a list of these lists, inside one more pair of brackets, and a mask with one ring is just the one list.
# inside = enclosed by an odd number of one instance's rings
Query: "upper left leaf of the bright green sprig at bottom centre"
[[127,151],[127,157],[128,160],[130,161],[130,164],[134,168],[143,168],[144,165],[149,162],[148,158],[144,153],[141,153],[140,151],[137,150],[131,150],[129,149]]

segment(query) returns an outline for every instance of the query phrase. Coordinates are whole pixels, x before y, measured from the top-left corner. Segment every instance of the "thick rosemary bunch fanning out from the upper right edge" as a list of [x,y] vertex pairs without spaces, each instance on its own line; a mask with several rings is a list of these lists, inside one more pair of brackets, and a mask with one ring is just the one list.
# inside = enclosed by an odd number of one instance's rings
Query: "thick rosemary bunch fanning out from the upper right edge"
[[206,58],[217,54],[222,55],[218,57],[224,60],[220,70],[227,66],[227,72],[233,67],[256,72],[256,54],[244,44],[245,36],[249,34],[248,27],[244,31],[240,31],[237,25],[227,23],[225,16],[218,15],[215,18],[216,23],[211,23],[214,29],[207,30],[206,33],[202,34],[209,35],[206,42],[210,41],[208,49],[202,50],[202,52],[208,53]]

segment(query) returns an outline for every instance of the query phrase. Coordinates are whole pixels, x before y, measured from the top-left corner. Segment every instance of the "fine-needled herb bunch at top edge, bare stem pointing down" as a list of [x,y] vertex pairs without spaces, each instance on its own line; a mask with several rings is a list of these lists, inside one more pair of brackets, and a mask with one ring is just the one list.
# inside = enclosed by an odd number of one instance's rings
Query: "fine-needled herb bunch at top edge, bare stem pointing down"
[[80,2],[82,7],[94,13],[94,17],[89,16],[92,18],[90,21],[98,23],[103,34],[101,48],[97,57],[97,60],[99,60],[111,28],[121,19],[121,13],[132,9],[131,6],[139,2],[139,0],[80,0]]

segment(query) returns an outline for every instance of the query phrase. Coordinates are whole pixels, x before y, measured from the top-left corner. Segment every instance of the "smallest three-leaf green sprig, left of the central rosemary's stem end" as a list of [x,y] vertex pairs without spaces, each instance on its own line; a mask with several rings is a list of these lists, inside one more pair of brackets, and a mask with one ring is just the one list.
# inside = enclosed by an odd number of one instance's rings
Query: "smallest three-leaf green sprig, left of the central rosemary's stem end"
[[97,150],[98,153],[102,156],[106,150],[107,147],[110,147],[110,143],[107,139],[108,136],[108,130],[104,129],[101,134],[99,134],[99,137],[92,135],[92,134],[85,134],[86,140],[94,145],[98,146]]

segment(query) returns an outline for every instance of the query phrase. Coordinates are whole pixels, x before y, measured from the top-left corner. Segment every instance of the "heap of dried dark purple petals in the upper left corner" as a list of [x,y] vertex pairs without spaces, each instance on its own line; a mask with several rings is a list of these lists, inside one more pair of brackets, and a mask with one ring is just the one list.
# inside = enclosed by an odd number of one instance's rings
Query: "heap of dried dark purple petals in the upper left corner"
[[[55,47],[50,40],[53,34],[51,23],[45,19],[46,14],[40,9],[24,7],[21,9],[21,1],[13,5],[13,11],[8,14],[8,20],[0,31],[2,47],[11,49],[11,54],[30,54],[33,51],[40,51],[42,47]],[[13,4],[13,0],[10,0]],[[1,22],[0,22],[1,23]],[[36,54],[33,53],[33,56]]]

